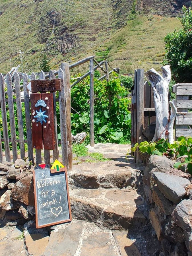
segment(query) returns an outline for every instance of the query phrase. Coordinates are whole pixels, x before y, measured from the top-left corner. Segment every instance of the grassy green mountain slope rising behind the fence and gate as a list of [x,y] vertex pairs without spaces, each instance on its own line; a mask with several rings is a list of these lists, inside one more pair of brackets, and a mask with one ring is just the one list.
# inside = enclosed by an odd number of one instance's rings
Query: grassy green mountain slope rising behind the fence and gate
[[[98,61],[108,57],[122,73],[135,68],[159,69],[164,53],[163,38],[180,27],[176,18],[144,13],[177,15],[177,8],[166,0],[1,0],[0,71],[20,64],[18,50],[24,51],[23,70],[39,71],[46,52],[52,69],[61,61],[75,62],[96,53]],[[177,3],[178,2],[178,3]],[[188,1],[190,2],[190,1]],[[155,9],[156,7],[156,9]],[[155,9],[155,11],[154,11]],[[167,9],[166,9],[167,10]],[[136,19],[132,13],[139,11]],[[82,70],[83,69],[83,70]],[[75,72],[87,69],[84,65]]]

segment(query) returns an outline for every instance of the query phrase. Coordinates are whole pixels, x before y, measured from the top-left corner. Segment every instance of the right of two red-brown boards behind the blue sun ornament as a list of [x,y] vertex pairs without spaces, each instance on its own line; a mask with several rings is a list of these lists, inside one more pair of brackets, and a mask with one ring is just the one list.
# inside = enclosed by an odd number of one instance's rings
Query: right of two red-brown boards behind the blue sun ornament
[[[46,107],[42,107],[42,111],[46,111],[45,115],[47,122],[43,122],[43,145],[44,149],[55,149],[55,137],[54,137],[54,116],[53,116],[53,94],[42,93],[42,100],[44,100]],[[48,109],[47,109],[48,107]]]

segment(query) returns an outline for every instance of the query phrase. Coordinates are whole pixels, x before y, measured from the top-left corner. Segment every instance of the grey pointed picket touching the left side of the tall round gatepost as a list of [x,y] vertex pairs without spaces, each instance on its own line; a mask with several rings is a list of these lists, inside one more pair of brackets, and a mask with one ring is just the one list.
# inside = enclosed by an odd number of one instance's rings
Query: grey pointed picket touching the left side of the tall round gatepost
[[63,165],[68,164],[68,143],[67,143],[67,125],[66,125],[66,107],[65,107],[65,87],[64,87],[64,73],[60,68],[58,70],[58,77],[61,78],[61,92],[59,92],[59,109],[60,109],[60,130],[61,130],[61,150]]

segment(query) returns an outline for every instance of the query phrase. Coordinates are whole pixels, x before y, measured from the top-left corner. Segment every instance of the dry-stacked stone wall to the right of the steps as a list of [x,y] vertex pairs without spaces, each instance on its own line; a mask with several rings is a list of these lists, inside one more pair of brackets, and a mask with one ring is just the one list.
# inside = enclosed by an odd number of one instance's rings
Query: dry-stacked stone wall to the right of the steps
[[164,156],[149,158],[143,175],[144,191],[151,206],[149,219],[161,242],[160,256],[191,256],[191,175],[173,168],[173,164]]

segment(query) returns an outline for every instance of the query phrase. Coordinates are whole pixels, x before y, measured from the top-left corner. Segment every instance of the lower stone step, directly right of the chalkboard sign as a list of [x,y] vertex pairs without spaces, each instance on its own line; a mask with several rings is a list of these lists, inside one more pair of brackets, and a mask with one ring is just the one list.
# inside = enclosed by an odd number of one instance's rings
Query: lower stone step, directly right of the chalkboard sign
[[70,188],[73,217],[113,230],[146,225],[147,205],[143,192],[133,189]]

